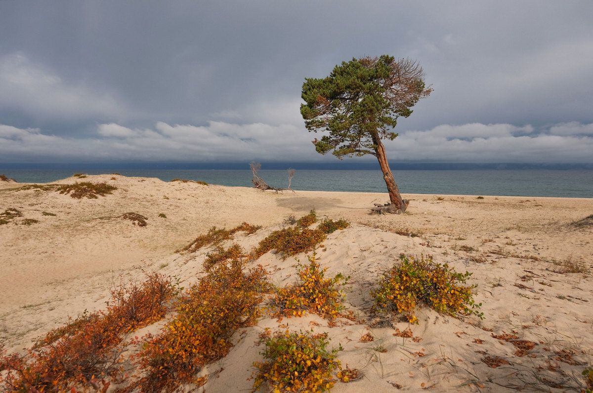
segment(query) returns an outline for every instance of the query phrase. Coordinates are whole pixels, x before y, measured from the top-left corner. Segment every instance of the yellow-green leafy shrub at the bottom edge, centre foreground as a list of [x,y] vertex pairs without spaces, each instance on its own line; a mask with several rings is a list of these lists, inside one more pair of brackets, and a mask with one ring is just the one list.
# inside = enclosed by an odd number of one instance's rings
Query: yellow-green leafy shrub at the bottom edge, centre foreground
[[340,368],[337,349],[328,350],[327,333],[278,333],[265,341],[264,362],[256,362],[254,390],[264,382],[275,392],[321,392],[334,385],[332,370]]

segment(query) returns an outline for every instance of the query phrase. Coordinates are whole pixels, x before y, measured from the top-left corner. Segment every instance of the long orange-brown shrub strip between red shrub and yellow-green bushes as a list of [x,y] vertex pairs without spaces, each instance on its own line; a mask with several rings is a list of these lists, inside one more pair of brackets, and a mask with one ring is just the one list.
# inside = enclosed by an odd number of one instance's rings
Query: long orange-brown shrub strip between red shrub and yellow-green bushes
[[265,277],[261,266],[247,270],[240,260],[213,266],[180,300],[177,317],[158,336],[148,336],[139,354],[146,372],[136,382],[139,391],[175,391],[184,383],[205,383],[194,375],[228,353],[237,328],[254,323],[267,288]]

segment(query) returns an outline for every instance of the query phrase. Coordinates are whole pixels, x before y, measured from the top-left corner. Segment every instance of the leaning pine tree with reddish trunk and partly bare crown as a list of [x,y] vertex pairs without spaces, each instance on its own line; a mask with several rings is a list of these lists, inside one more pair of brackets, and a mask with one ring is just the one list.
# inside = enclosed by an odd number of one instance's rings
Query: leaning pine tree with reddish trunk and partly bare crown
[[313,141],[317,152],[333,151],[339,159],[365,154],[377,157],[391,202],[383,211],[390,213],[405,212],[407,201],[401,199],[381,139],[395,139],[397,133],[391,129],[397,118],[410,116],[410,108],[431,94],[423,78],[415,60],[396,61],[382,55],[342,62],[327,78],[305,78],[302,85],[305,126],[309,131],[329,132]]

